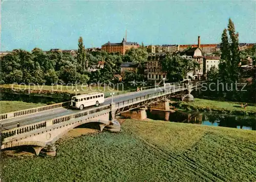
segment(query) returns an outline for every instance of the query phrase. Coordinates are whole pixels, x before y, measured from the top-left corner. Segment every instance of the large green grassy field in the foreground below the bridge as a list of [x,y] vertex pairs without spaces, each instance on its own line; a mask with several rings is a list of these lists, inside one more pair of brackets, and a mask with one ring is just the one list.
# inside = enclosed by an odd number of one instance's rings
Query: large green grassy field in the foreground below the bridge
[[125,120],[119,133],[57,141],[57,155],[3,156],[3,181],[255,181],[255,131]]

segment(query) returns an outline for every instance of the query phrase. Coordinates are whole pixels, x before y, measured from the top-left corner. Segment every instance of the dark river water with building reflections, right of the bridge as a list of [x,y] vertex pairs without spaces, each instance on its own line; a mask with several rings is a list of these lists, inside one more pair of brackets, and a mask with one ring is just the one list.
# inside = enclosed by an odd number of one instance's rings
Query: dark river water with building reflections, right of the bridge
[[256,118],[251,116],[176,111],[170,114],[169,121],[256,130]]

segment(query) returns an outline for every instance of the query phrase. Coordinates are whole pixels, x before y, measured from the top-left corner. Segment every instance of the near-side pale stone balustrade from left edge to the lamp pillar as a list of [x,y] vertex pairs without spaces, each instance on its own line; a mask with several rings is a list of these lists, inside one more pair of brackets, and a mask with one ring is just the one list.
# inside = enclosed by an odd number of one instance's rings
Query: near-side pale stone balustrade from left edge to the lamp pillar
[[26,132],[40,129],[40,128],[45,128],[45,127],[48,127],[51,125],[69,121],[71,119],[76,119],[76,118],[80,118],[80,117],[84,117],[84,116],[88,116],[88,115],[93,115],[96,112],[100,112],[100,111],[104,111],[104,110],[110,111],[110,109],[111,109],[111,105],[109,104],[109,105],[104,105],[104,106],[97,107],[97,108],[91,108],[89,110],[76,112],[71,115],[66,115],[66,116],[58,117],[58,118],[47,120],[47,121],[41,121],[41,122],[32,123],[32,124],[25,125],[25,126],[16,127],[16,128],[10,129],[10,130],[3,131],[2,132],[2,140],[6,139],[8,137],[13,137],[14,135],[17,135],[17,134],[23,134]]

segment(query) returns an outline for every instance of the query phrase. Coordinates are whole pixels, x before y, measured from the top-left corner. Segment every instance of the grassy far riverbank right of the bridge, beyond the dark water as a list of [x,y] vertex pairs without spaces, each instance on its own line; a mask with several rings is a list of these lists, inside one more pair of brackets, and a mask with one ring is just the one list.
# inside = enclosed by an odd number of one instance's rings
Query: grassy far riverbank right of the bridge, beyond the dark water
[[[256,104],[249,104],[246,109],[241,107],[240,102],[224,102],[195,98],[193,102],[176,102],[172,105],[184,110],[198,110],[203,112],[217,112],[231,115],[256,115]],[[245,103],[243,103],[244,105]]]

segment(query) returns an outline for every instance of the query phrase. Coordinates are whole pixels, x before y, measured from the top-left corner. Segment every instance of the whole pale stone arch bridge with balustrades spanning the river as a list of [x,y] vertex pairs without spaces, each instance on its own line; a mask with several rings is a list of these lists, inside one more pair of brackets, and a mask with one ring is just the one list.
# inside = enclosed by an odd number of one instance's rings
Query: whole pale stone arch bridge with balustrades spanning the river
[[[191,89],[199,86],[180,86],[176,83],[163,87],[151,88],[140,92],[127,93],[113,98],[105,99],[100,107],[89,107],[84,110],[71,110],[63,102],[48,106],[15,111],[0,115],[3,126],[1,135],[1,149],[16,146],[32,146],[36,155],[55,156],[54,143],[69,130],[85,124],[97,123],[100,130],[120,131],[120,124],[115,116],[123,113],[133,115],[134,111],[141,119],[146,117],[145,109],[157,108],[168,110],[168,99],[177,95],[189,95]],[[154,104],[156,106],[154,106]],[[164,107],[159,107],[160,105]],[[138,112],[139,110],[139,112]],[[135,117],[136,118],[136,117]],[[165,116],[166,118],[166,116]],[[17,122],[20,123],[16,127]]]

